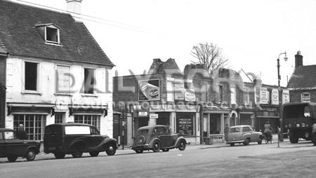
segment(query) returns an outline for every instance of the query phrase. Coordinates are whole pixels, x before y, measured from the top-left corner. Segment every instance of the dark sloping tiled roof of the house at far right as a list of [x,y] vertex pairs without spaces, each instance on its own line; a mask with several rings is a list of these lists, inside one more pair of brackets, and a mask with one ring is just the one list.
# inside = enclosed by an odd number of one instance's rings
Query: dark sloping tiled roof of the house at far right
[[316,87],[316,65],[296,67],[289,79],[287,88],[312,88]]

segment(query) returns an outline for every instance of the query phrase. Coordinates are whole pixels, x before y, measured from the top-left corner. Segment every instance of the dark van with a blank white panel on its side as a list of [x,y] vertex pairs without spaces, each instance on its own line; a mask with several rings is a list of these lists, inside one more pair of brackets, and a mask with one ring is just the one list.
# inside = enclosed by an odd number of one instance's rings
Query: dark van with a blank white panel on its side
[[45,127],[44,152],[53,153],[55,158],[64,158],[66,154],[80,158],[84,152],[90,153],[90,156],[98,156],[101,151],[112,156],[116,150],[116,139],[100,135],[93,125],[55,123]]

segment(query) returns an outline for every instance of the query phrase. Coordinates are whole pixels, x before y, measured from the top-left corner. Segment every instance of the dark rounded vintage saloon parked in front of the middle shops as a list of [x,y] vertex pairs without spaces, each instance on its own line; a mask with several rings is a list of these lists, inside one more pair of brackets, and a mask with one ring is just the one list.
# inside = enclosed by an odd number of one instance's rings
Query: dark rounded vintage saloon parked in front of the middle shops
[[187,142],[182,136],[171,133],[169,126],[153,125],[138,128],[131,149],[136,153],[143,153],[144,150],[158,152],[161,149],[165,152],[175,148],[183,151],[186,144]]

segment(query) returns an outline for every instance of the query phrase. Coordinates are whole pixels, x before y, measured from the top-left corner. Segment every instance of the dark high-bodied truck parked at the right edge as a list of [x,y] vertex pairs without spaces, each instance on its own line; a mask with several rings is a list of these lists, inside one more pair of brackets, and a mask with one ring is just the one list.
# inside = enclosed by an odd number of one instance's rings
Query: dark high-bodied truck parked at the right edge
[[283,130],[291,143],[298,139],[312,139],[312,125],[316,123],[316,103],[300,102],[283,105]]

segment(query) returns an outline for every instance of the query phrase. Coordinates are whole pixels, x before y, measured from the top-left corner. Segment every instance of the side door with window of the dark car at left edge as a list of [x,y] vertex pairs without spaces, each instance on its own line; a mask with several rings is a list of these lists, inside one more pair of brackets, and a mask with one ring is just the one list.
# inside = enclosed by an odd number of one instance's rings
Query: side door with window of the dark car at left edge
[[15,137],[13,131],[5,131],[6,155],[24,156],[27,151],[27,142]]

